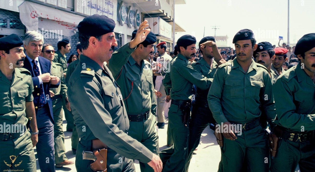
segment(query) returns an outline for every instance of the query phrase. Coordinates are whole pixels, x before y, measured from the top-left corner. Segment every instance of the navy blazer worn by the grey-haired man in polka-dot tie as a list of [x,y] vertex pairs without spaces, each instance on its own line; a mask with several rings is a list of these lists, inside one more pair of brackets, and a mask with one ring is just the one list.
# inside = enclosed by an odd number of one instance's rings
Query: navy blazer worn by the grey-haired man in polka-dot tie
[[[42,74],[50,73],[51,63],[50,63],[49,60],[45,59],[44,57],[38,56],[38,63],[40,64],[40,68],[41,68]],[[41,87],[41,85],[39,84],[38,77],[35,77],[35,75],[34,75],[34,72],[32,70],[32,66],[33,66],[33,64],[31,64],[30,61],[27,58],[25,58],[23,67],[26,68],[28,71],[30,71],[31,75],[32,75],[33,86],[34,86],[34,92],[33,92],[34,100],[33,100],[33,103],[34,103],[34,105],[36,107],[36,106],[39,105],[39,96],[40,96],[40,87]],[[44,89],[45,95],[47,95],[47,94],[49,95],[49,88],[58,88],[59,84],[60,84],[60,81],[56,85],[50,84],[50,82],[43,83],[43,89]],[[39,95],[37,95],[37,94],[39,94]],[[46,101],[47,101],[47,103],[49,105],[49,111],[50,111],[51,119],[54,122],[53,105],[52,105],[52,101],[50,99],[50,96],[49,96],[49,100],[46,100]],[[37,108],[35,108],[35,112],[36,112],[36,115],[37,115]]]

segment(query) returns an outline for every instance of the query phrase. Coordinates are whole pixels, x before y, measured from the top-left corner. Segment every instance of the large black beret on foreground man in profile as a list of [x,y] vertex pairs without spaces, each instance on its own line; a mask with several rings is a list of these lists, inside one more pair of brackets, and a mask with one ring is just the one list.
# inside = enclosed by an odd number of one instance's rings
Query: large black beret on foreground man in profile
[[78,24],[79,33],[88,36],[101,36],[114,32],[115,22],[105,15],[94,14],[84,18]]

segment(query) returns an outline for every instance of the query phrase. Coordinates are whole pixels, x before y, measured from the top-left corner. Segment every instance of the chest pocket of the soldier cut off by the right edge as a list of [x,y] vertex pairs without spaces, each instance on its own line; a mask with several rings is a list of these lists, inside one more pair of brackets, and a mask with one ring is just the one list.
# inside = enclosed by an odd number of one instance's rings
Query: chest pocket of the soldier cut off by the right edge
[[295,103],[296,109],[298,113],[301,114],[309,114],[312,111],[312,108],[314,108],[314,102],[312,99],[312,96],[309,94],[294,94],[295,100],[297,101]]

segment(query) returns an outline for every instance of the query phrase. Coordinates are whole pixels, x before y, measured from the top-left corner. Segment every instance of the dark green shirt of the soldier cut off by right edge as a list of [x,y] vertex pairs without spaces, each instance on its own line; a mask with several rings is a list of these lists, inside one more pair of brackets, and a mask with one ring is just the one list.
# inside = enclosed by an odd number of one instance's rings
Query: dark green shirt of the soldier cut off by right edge
[[315,84],[300,63],[279,76],[273,94],[278,115],[275,124],[292,132],[315,130]]

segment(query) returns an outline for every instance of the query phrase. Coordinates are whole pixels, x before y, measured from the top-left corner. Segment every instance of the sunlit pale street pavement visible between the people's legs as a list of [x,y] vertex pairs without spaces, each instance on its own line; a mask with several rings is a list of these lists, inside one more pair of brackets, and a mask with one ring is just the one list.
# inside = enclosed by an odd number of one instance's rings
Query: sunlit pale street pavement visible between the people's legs
[[[160,150],[163,150],[166,147],[166,131],[167,131],[168,121],[165,121],[165,128],[158,130],[159,136],[159,145]],[[66,120],[64,119],[63,124],[64,130],[66,129]],[[66,156],[69,160],[75,161],[75,155],[71,151],[71,134],[72,132],[65,132],[65,146],[66,146]],[[35,149],[36,150],[36,149]],[[36,154],[36,152],[35,152]],[[192,157],[189,172],[217,172],[218,164],[220,162],[220,147],[216,143],[215,136],[213,135],[213,131],[207,127],[201,136],[200,144],[198,146],[198,150],[194,151],[194,155]],[[37,162],[37,172],[40,172],[38,161]],[[136,171],[140,172],[139,162],[135,161]],[[75,164],[64,166],[62,168],[56,168],[56,172],[62,171],[71,171],[76,172]],[[297,171],[297,170],[296,170]]]

